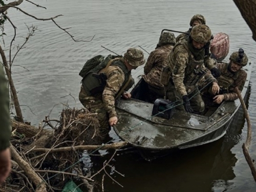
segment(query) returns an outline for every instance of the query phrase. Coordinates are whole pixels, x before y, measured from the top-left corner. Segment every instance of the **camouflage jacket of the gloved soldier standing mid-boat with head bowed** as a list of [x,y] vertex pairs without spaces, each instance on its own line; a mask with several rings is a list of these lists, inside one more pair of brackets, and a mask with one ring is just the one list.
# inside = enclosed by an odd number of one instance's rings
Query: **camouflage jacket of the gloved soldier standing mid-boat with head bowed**
[[[192,84],[191,78],[196,76],[194,75],[195,69],[205,71],[204,78],[208,82],[217,82],[210,71],[205,68],[204,60],[196,61],[194,59],[194,55],[188,49],[186,42],[176,45],[170,52],[167,57],[167,65],[170,70],[170,79],[173,80],[174,86],[181,96],[187,95],[186,86]],[[198,81],[195,82],[197,85]]]

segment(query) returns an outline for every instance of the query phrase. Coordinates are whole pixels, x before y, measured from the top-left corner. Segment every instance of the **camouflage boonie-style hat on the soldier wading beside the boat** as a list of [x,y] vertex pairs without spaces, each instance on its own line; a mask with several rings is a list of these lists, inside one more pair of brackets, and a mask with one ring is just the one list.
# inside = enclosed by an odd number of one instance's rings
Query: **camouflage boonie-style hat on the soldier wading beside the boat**
[[137,48],[130,48],[124,53],[124,58],[133,67],[141,66],[145,63],[144,54]]

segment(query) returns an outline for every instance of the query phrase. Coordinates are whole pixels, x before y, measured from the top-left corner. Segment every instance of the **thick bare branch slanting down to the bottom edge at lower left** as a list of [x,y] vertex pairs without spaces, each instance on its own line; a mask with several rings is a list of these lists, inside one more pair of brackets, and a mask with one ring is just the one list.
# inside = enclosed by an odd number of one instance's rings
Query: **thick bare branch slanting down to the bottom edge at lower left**
[[10,146],[12,158],[18,163],[18,165],[24,170],[29,179],[37,186],[36,192],[46,192],[46,183],[42,181],[41,178],[35,173],[34,169],[26,162],[18,152],[15,147],[11,144]]

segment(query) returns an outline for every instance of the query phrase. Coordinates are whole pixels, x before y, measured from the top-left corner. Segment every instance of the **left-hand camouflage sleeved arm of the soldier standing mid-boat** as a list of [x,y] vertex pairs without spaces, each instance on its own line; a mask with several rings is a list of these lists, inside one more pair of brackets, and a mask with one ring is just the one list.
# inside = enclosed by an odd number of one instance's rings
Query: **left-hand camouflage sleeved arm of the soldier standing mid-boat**
[[176,48],[173,56],[175,61],[175,66],[173,69],[174,86],[176,90],[181,94],[181,96],[187,95],[186,87],[183,83],[183,80],[185,75],[185,68],[188,63],[188,53],[180,46],[180,48]]

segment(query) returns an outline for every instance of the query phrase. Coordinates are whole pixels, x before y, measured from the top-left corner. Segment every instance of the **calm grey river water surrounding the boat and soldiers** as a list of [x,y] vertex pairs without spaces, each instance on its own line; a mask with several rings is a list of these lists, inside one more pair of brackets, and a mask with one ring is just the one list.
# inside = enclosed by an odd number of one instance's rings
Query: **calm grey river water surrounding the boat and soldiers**
[[[97,54],[110,54],[101,46],[118,54],[138,46],[151,52],[162,29],[186,31],[194,14],[205,16],[213,34],[229,34],[229,55],[243,48],[252,61],[256,59],[251,31],[231,0],[33,2],[47,9],[37,8],[28,2],[19,7],[38,18],[63,14],[55,21],[62,28],[70,28],[69,33],[77,40],[90,40],[95,35],[90,42],[74,42],[51,20],[39,21],[15,9],[8,11],[17,27],[13,54],[16,46],[21,45],[26,38],[26,25],[33,24],[38,28],[26,48],[16,57],[16,66],[12,69],[24,117],[34,125],[38,125],[49,113],[51,118],[57,119],[63,109],[62,104],[81,108],[78,100],[81,78],[78,73],[88,58]],[[10,25],[5,25],[5,32],[7,49],[13,35]],[[147,53],[145,56],[148,56]],[[140,69],[134,72],[135,77],[143,73]],[[253,70],[247,102],[253,130],[250,153],[254,159],[255,80]],[[124,177],[114,171],[111,177],[122,186],[106,176],[104,191],[256,191],[256,184],[242,152],[246,129],[247,124],[240,110],[226,136],[217,142],[182,150],[153,162],[145,162],[135,154],[116,156],[111,164]],[[111,132],[111,136],[116,137],[114,132]],[[101,178],[98,182],[101,182]]]

